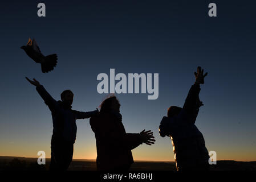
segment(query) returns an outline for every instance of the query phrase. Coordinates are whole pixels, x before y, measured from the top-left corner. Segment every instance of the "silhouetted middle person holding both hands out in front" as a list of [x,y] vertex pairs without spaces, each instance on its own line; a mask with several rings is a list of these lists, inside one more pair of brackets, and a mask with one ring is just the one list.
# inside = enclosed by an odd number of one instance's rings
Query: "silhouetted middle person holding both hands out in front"
[[97,146],[97,170],[128,171],[133,163],[132,149],[140,144],[154,144],[153,132],[126,133],[120,104],[115,96],[101,103],[99,115],[90,119]]

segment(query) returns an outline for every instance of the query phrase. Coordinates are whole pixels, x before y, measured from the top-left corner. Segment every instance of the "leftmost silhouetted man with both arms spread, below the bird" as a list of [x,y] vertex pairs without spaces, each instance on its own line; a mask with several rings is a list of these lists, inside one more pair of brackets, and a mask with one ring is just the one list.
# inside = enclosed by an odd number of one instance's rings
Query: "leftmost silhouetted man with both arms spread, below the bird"
[[98,110],[81,112],[71,109],[74,94],[71,90],[64,90],[60,95],[62,101],[54,98],[44,89],[43,85],[33,79],[26,79],[36,86],[36,90],[51,110],[53,132],[51,137],[51,164],[50,170],[67,170],[73,158],[76,139],[76,119],[90,118],[99,113]]

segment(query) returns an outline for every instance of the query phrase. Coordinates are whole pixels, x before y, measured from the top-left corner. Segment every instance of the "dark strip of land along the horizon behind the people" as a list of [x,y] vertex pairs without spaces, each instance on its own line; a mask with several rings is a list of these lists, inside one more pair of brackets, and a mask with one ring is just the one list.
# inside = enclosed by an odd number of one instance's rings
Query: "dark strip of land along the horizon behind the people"
[[[50,159],[46,159],[46,165],[38,165],[37,158],[0,156],[1,171],[47,171],[49,166]],[[96,171],[96,160],[74,159],[68,170]],[[135,161],[130,171],[176,171],[176,167],[174,162]],[[256,171],[256,162],[218,160],[210,171]]]

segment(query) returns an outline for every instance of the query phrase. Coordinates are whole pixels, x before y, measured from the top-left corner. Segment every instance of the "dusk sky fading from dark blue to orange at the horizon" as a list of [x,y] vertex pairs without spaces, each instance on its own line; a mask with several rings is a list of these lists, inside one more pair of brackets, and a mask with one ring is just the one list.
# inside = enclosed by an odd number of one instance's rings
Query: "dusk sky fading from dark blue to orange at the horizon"
[[[46,5],[46,17],[37,5]],[[217,17],[208,5],[217,5]],[[183,106],[198,65],[201,85],[196,126],[217,160],[256,160],[256,3],[254,1],[6,1],[0,3],[0,156],[50,158],[52,119],[25,77],[36,78],[55,100],[74,92],[72,109],[91,111],[108,94],[97,75],[159,73],[159,97],[116,94],[127,133],[152,130],[156,143],[132,150],[135,160],[173,161],[170,138],[158,127],[171,105]],[[35,38],[42,53],[58,54],[54,71],[20,49]],[[89,119],[79,119],[74,159],[96,159]]]

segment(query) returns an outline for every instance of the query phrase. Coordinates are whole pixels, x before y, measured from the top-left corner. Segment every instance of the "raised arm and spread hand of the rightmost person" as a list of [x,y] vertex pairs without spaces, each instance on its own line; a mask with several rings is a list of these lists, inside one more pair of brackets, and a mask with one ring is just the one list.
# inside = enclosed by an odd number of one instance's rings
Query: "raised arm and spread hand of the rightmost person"
[[189,115],[189,122],[191,123],[196,122],[199,107],[203,105],[199,99],[199,93],[201,90],[200,84],[204,84],[204,77],[206,77],[207,74],[208,73],[205,73],[204,75],[204,69],[201,69],[201,67],[197,68],[197,73],[194,73],[196,76],[196,81],[194,82],[194,85],[192,85],[189,89],[188,96],[186,97],[186,101],[183,106],[183,109]]

